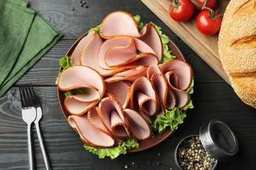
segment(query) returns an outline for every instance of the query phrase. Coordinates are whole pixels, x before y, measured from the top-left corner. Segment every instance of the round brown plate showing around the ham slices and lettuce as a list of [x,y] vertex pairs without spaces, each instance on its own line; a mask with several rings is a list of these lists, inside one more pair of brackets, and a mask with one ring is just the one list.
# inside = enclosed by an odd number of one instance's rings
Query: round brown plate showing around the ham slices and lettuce
[[[71,54],[75,50],[75,47],[77,46],[78,42],[83,37],[85,37],[87,34],[88,33],[85,33],[79,39],[77,39],[77,41],[74,42],[74,44],[70,47],[70,49],[66,53],[66,56],[71,56]],[[182,60],[185,61],[184,56],[182,55],[181,51],[179,50],[179,48],[176,46],[176,44],[173,41],[170,40],[168,46],[169,46],[169,49],[171,49],[171,54],[173,56],[176,56],[177,59],[182,59]],[[61,70],[62,70],[62,68],[60,68],[60,71]],[[57,88],[57,93],[58,93],[58,102],[60,103],[60,109],[62,110],[62,113],[64,114],[64,117],[66,119],[68,119],[68,116],[70,116],[70,114],[68,113],[68,111],[64,107],[65,94],[64,94],[63,91],[59,90],[58,88]],[[153,146],[156,146],[157,144],[164,141],[172,133],[173,133],[173,131],[171,131],[170,129],[165,130],[161,134],[156,133],[154,138],[150,138],[146,141],[141,141],[139,148],[133,148],[131,150],[128,150],[128,152],[139,152],[139,151],[142,151],[142,150],[146,150],[148,148],[152,148]]]

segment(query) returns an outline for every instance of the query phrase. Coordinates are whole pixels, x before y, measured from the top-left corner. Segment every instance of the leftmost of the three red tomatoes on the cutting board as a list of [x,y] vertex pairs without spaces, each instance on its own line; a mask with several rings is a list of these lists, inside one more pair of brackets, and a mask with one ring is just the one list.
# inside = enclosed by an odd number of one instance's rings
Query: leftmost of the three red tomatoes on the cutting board
[[169,15],[177,22],[189,20],[194,13],[194,3],[190,0],[173,0],[170,3]]

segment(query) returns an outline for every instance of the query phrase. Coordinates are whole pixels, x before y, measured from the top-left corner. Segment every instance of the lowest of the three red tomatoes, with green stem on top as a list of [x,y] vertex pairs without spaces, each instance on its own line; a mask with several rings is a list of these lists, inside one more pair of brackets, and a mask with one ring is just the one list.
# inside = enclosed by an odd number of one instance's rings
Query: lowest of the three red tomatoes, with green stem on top
[[196,27],[205,35],[214,35],[221,28],[221,17],[216,12],[211,16],[209,10],[202,10],[196,17]]

